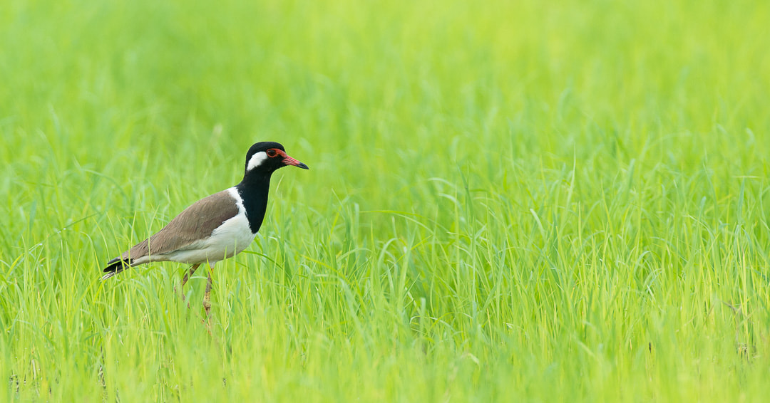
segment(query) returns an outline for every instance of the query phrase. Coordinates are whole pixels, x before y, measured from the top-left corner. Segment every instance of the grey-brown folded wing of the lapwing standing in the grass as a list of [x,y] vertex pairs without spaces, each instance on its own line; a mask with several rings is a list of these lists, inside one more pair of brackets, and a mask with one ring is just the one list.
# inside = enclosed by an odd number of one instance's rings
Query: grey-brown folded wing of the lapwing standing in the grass
[[120,258],[134,260],[185,249],[196,241],[208,238],[214,229],[237,214],[238,206],[229,190],[215,193],[185,208],[168,225],[123,252]]

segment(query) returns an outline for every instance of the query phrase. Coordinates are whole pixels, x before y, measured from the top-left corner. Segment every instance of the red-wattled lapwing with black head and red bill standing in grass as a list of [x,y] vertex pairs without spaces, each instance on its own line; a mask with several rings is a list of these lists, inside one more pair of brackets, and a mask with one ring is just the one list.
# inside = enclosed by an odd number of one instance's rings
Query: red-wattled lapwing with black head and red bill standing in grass
[[192,265],[189,273],[185,273],[182,278],[181,287],[184,287],[198,266],[208,263],[209,279],[203,296],[203,308],[206,309],[206,315],[209,315],[211,269],[217,261],[233,257],[254,240],[265,218],[270,175],[286,165],[310,169],[286,155],[283,145],[279,143],[259,142],[252,145],[246,153],[243,181],[200,199],[185,208],[155,235],[108,261],[104,269],[107,274],[102,276],[102,280],[126,268],[150,261],[179,261]]

